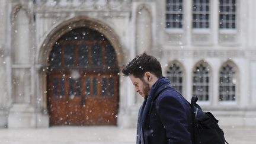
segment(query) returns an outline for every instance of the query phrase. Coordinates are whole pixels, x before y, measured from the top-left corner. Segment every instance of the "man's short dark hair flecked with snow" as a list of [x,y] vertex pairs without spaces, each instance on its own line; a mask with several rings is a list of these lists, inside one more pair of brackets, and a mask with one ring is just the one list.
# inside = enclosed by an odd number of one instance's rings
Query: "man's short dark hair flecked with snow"
[[145,72],[151,72],[156,77],[162,77],[162,68],[159,61],[145,52],[142,55],[136,56],[126,66],[124,66],[122,72],[124,76],[133,75],[135,78],[143,79]]

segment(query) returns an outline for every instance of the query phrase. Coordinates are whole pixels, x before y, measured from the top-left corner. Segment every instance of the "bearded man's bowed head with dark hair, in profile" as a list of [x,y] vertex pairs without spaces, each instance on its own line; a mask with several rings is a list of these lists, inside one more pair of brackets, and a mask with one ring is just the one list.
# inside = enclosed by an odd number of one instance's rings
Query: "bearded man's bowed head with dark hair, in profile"
[[136,92],[146,98],[155,82],[162,77],[162,68],[158,60],[143,53],[136,56],[126,66],[122,72],[124,76],[129,76]]

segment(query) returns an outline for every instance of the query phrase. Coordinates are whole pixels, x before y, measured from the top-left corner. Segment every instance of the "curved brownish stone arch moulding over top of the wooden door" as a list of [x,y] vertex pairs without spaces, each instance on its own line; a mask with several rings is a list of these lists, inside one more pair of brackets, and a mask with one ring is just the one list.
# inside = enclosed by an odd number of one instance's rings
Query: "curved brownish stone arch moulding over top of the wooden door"
[[69,31],[72,31],[73,29],[80,27],[91,28],[92,30],[96,30],[99,33],[103,34],[110,41],[110,43],[116,51],[118,65],[120,67],[123,66],[123,45],[121,44],[119,36],[114,31],[114,29],[100,20],[96,20],[94,18],[89,18],[85,16],[71,18],[69,20],[63,21],[56,27],[52,28],[52,30],[50,30],[49,33],[46,34],[43,43],[40,44],[41,47],[38,52],[37,63],[46,66],[47,57],[49,56],[53,44],[55,44],[55,41],[57,41],[60,37],[62,37]]

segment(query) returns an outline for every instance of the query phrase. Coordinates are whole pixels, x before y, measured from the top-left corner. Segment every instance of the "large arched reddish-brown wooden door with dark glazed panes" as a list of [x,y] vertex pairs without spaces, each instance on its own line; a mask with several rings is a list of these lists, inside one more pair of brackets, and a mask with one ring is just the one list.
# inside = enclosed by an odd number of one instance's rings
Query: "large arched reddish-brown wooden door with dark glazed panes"
[[115,125],[118,73],[115,50],[102,34],[83,27],[62,36],[49,56],[50,125]]

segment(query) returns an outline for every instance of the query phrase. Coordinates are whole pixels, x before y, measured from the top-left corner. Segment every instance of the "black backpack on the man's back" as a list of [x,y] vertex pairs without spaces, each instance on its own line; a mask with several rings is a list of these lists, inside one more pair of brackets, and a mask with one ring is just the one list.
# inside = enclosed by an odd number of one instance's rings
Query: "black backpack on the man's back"
[[224,132],[220,129],[218,120],[212,113],[204,113],[196,104],[198,98],[191,98],[191,110],[194,126],[194,144],[225,144]]

